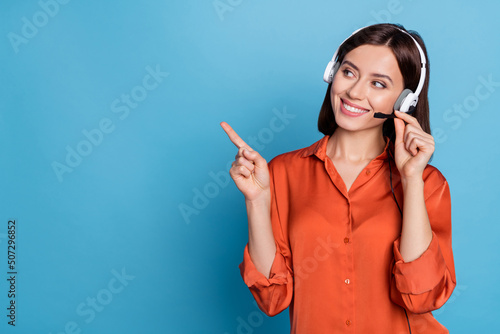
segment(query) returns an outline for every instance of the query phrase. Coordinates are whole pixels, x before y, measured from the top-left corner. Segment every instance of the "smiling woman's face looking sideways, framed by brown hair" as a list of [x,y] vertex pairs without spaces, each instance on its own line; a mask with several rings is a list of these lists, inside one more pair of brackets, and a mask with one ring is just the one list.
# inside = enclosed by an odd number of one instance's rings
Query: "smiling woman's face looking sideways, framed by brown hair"
[[350,130],[382,127],[381,112],[391,114],[403,91],[396,56],[387,46],[361,45],[345,55],[335,74],[331,99],[338,126]]

